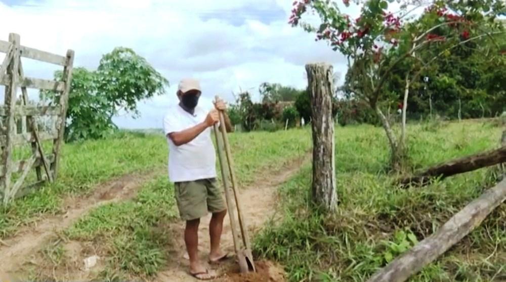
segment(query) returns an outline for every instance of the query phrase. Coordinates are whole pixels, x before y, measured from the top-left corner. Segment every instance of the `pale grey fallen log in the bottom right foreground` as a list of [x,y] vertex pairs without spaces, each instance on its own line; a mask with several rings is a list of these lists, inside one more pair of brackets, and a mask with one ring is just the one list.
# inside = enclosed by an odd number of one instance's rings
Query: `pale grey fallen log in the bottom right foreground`
[[427,264],[466,237],[497,206],[506,200],[506,180],[502,180],[480,198],[469,203],[430,237],[393,260],[374,274],[368,282],[401,282],[420,271]]

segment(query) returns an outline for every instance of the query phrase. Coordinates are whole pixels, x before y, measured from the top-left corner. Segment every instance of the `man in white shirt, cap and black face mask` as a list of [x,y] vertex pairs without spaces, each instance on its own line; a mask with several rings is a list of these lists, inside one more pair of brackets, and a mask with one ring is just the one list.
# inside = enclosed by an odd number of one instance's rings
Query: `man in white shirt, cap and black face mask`
[[198,259],[198,225],[208,212],[209,262],[227,258],[220,249],[223,219],[227,207],[222,190],[216,183],[216,153],[211,128],[219,124],[218,111],[223,111],[225,127],[231,131],[230,119],[222,100],[205,103],[200,100],[200,84],[185,78],[179,83],[179,104],[172,106],[163,119],[169,146],[168,175],[174,182],[176,200],[181,219],[186,220],[185,244],[190,259],[190,274],[198,279],[212,279],[216,273],[206,269]]

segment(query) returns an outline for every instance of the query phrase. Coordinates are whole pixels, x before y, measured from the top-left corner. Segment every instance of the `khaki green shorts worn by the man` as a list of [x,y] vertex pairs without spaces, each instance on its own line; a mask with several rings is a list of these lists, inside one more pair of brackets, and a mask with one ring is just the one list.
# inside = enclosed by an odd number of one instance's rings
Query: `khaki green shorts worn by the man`
[[192,220],[205,216],[207,212],[226,210],[224,192],[216,184],[216,178],[174,183],[181,219]]

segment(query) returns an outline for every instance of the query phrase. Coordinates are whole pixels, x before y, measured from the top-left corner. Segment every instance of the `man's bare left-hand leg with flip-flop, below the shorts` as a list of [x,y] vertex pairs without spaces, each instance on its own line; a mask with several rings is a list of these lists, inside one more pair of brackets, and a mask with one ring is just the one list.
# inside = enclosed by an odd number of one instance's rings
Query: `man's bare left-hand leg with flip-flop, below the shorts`
[[190,258],[190,273],[202,273],[196,275],[196,278],[207,279],[214,276],[214,272],[206,272],[207,269],[200,263],[198,259],[198,225],[200,219],[186,221],[185,228],[185,244],[188,256]]

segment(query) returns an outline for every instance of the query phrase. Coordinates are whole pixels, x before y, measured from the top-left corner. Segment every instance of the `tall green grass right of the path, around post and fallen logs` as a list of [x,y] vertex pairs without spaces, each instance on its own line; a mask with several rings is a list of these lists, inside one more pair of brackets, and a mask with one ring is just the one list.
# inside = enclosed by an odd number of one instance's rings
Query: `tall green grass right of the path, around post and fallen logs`
[[[500,128],[479,122],[411,125],[409,163],[423,168],[498,146]],[[402,190],[386,174],[381,128],[336,129],[339,208],[319,214],[309,204],[311,166],[280,189],[285,217],[255,239],[257,255],[281,262],[291,281],[364,281],[429,236],[478,197],[495,178],[489,169]],[[506,273],[506,207],[410,281],[489,281]],[[500,276],[502,275],[502,276]]]

